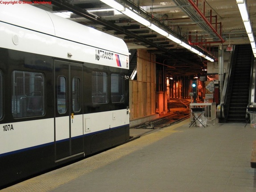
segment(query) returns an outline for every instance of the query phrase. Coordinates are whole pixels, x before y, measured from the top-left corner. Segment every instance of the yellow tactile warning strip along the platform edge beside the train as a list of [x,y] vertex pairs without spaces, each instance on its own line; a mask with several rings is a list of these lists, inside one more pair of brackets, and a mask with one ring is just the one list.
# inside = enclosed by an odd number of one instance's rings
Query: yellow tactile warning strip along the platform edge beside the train
[[184,124],[189,124],[188,120],[184,120],[179,124],[175,124],[167,128],[158,129],[156,132],[142,136],[137,140],[86,158],[77,163],[59,168],[55,171],[34,177],[9,188],[5,188],[1,190],[1,192],[47,192],[62,184],[74,180],[79,176],[110,164],[123,156],[153,144],[164,137],[170,136],[171,134],[178,132],[174,131],[175,128]]

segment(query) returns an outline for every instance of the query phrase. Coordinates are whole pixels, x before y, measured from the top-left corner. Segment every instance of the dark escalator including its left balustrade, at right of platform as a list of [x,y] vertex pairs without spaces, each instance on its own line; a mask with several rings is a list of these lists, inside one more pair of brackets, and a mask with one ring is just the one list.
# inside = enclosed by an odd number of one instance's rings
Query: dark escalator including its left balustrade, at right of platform
[[236,45],[230,64],[225,100],[222,101],[223,118],[219,119],[220,122],[246,122],[246,109],[249,103],[252,76],[252,56],[250,44]]

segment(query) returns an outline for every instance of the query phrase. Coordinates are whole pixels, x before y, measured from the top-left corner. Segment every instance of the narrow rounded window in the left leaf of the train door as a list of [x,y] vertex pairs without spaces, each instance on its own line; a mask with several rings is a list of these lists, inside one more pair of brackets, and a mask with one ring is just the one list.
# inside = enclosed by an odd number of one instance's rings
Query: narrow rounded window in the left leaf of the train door
[[67,96],[66,96],[66,78],[59,76],[57,80],[57,110],[59,114],[67,111]]

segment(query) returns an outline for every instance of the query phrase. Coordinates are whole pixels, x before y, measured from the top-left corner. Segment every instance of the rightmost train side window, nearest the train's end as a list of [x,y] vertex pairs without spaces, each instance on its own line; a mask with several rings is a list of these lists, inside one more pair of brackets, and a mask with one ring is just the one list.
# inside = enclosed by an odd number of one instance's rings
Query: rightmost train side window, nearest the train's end
[[111,74],[111,102],[124,102],[124,76],[120,74]]

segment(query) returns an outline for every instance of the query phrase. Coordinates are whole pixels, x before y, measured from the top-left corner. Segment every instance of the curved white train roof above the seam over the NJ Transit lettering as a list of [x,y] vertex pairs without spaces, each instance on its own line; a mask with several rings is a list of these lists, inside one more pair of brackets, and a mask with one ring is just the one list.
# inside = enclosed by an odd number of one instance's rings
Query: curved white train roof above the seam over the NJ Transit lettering
[[62,39],[129,55],[125,42],[29,4],[0,6],[0,21]]

